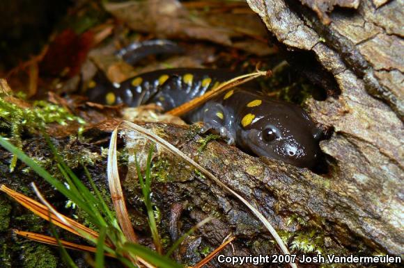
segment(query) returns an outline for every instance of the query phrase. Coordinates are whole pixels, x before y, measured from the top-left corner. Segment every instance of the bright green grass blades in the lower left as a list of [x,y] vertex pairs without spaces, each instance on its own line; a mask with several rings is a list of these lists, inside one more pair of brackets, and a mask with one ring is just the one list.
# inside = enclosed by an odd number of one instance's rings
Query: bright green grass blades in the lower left
[[[159,253],[148,249],[146,246],[127,242],[125,235],[123,235],[123,232],[118,225],[117,219],[114,217],[114,214],[111,212],[111,210],[109,210],[105,201],[101,198],[101,194],[91,180],[91,176],[88,171],[85,169],[85,172],[95,194],[92,194],[91,191],[79,180],[79,178],[77,178],[73,171],[67,165],[65,165],[65,163],[57,153],[56,149],[54,148],[54,145],[52,144],[52,142],[50,142],[49,138],[47,138],[47,141],[49,143],[49,147],[54,152],[59,170],[61,171],[61,174],[63,174],[63,178],[65,178],[64,182],[54,178],[54,176],[40,167],[40,165],[29,158],[29,156],[27,156],[22,150],[18,149],[16,146],[8,142],[6,138],[0,136],[0,145],[3,146],[3,148],[17,156],[18,159],[20,159],[22,162],[36,171],[36,173],[45,181],[47,181],[47,183],[55,187],[56,190],[61,192],[66,198],[76,203],[79,208],[86,212],[86,215],[91,223],[98,227],[98,229],[100,230],[100,236],[98,237],[98,240],[94,240],[91,239],[91,237],[88,237],[88,240],[90,240],[90,242],[93,242],[93,244],[96,245],[97,249],[97,252],[95,253],[95,267],[104,267],[104,251],[115,255],[118,260],[120,260],[127,267],[135,267],[132,260],[135,260],[136,256],[139,256],[140,258],[143,258],[143,260],[147,260],[148,262],[150,262],[150,264],[158,267],[182,267],[182,265],[179,265],[166,256],[162,256]],[[148,205],[146,206],[149,209],[151,208],[151,153],[153,153],[153,151],[150,150],[148,157],[148,166],[146,169],[146,177],[143,181],[142,187],[143,196],[148,196],[145,201],[147,201]],[[66,186],[65,183],[67,183],[68,186]],[[149,219],[152,218],[153,215],[153,210],[150,211],[152,213],[148,213]],[[150,224],[150,226],[155,226],[155,222],[154,224]],[[153,232],[155,232],[154,235],[156,235],[157,227],[155,227],[155,231]],[[104,243],[105,240],[109,240],[114,246],[107,246]],[[69,266],[75,267],[74,262],[72,262],[71,258],[68,257],[67,251],[63,249],[62,252],[62,256],[64,257],[63,259],[65,260],[65,262],[68,262],[67,264]]]

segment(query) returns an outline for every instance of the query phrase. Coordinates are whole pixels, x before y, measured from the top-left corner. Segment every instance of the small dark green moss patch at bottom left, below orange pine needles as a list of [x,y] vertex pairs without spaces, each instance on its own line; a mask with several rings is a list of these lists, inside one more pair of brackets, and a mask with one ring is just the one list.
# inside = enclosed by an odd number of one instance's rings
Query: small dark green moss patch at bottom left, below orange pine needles
[[23,266],[26,268],[54,268],[59,263],[59,258],[44,244],[24,243],[22,250]]

